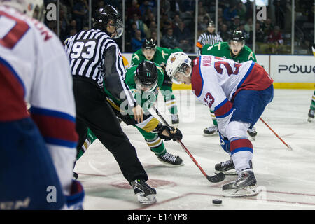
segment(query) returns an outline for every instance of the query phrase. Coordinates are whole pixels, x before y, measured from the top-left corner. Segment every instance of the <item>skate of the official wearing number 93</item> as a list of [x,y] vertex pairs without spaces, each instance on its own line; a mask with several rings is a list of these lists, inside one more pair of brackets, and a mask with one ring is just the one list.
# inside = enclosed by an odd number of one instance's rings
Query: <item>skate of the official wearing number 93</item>
[[137,195],[141,204],[154,204],[156,202],[156,190],[148,186],[144,180],[135,180],[131,183],[134,194]]

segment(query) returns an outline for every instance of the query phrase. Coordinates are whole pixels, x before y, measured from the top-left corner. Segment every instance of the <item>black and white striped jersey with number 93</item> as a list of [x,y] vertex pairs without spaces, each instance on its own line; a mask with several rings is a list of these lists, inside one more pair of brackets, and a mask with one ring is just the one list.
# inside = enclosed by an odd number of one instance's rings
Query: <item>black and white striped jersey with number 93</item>
[[73,78],[88,78],[101,88],[105,83],[113,97],[122,99],[125,96],[128,104],[135,106],[136,100],[125,83],[125,66],[119,47],[104,31],[81,31],[69,37],[64,48]]

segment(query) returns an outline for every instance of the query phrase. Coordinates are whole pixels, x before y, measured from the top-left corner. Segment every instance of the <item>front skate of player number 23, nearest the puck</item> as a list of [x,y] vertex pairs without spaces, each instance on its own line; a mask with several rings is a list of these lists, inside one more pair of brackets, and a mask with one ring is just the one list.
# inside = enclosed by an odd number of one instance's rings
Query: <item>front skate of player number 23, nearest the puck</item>
[[244,197],[258,195],[256,179],[253,169],[244,169],[239,177],[222,187],[223,196],[225,197]]

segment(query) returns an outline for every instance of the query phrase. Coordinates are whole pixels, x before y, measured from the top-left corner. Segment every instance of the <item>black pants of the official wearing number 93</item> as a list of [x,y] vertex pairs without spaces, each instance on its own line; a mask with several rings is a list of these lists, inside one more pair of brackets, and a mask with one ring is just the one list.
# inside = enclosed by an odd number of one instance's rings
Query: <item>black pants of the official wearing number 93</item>
[[104,92],[90,81],[73,78],[73,94],[76,101],[76,132],[80,151],[87,138],[87,127],[113,154],[125,179],[148,180],[134,146],[123,132],[113,109],[106,102]]

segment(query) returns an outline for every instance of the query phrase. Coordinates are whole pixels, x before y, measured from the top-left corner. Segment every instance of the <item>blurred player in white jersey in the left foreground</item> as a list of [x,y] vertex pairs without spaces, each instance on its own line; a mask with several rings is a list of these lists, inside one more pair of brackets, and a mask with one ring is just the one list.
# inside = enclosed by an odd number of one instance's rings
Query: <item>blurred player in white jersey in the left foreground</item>
[[0,0],[0,209],[82,208],[69,60],[43,7]]

